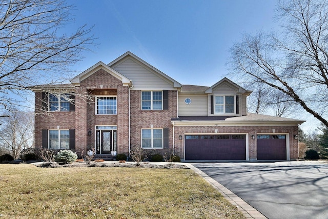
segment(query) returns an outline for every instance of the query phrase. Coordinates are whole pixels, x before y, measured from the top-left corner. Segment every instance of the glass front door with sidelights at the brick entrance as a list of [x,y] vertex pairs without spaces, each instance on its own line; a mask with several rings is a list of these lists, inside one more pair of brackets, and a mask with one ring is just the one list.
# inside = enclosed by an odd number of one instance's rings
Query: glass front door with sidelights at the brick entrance
[[97,130],[97,154],[110,154],[116,151],[116,130]]

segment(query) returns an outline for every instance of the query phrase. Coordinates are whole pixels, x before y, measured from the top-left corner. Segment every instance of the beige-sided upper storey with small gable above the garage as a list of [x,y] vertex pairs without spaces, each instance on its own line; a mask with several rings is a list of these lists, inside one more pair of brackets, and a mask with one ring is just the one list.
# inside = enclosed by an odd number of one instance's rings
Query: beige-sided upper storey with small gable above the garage
[[179,92],[179,116],[247,115],[245,90],[224,77],[211,87],[182,85]]

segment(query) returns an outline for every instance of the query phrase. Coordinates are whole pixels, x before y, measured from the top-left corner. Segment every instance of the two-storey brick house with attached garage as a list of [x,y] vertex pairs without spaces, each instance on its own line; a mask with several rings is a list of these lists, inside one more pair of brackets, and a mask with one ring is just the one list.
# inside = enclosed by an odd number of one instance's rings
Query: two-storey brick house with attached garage
[[131,52],[95,64],[70,84],[32,90],[36,149],[129,155],[142,147],[185,161],[298,158],[304,121],[248,113],[252,91],[228,78],[211,87],[181,85]]

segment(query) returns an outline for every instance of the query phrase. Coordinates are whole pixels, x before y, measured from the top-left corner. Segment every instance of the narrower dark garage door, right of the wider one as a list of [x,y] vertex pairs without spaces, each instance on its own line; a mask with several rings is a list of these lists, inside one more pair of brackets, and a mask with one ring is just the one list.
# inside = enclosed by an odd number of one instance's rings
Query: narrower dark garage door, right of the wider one
[[287,160],[286,135],[257,135],[257,160]]

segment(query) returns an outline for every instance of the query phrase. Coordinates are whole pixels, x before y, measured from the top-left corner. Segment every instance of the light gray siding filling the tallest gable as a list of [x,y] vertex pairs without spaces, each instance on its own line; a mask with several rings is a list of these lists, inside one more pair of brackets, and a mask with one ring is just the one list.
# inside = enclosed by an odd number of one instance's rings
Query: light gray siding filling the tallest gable
[[123,59],[112,68],[132,80],[132,90],[172,90],[173,83],[162,77],[152,69],[142,66],[132,58]]

